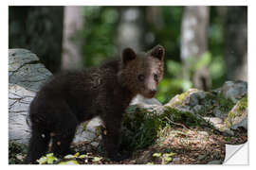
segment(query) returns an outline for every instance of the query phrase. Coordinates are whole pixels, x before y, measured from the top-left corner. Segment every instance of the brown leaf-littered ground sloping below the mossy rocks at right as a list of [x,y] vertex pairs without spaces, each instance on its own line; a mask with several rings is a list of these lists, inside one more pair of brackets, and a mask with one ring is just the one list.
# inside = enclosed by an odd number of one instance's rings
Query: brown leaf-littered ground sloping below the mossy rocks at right
[[[124,161],[82,160],[89,164],[207,164],[210,161],[225,160],[225,144],[244,144],[247,142],[247,130],[239,128],[235,135],[223,136],[202,127],[172,127],[168,135],[158,144],[137,150],[130,159]],[[101,157],[92,152],[93,157]],[[91,159],[93,160],[93,159]]]

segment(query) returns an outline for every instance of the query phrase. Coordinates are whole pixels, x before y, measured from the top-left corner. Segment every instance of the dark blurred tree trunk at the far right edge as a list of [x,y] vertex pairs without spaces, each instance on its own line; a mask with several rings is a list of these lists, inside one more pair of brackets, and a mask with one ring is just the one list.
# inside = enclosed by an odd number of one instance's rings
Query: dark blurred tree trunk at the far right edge
[[225,59],[230,80],[247,80],[247,7],[228,7]]

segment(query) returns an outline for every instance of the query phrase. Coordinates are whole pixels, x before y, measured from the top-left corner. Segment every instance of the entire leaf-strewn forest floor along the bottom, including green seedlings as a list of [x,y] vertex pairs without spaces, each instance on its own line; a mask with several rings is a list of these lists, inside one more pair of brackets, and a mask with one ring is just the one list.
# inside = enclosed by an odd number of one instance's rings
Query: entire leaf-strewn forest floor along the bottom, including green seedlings
[[[124,161],[110,161],[99,148],[87,144],[73,145],[80,151],[58,159],[47,154],[38,162],[42,164],[205,164],[209,161],[224,161],[225,144],[244,144],[247,130],[239,128],[233,137],[223,136],[209,127],[170,126],[161,129],[155,144],[138,149]],[[21,163],[25,158],[25,148],[10,144],[9,163]],[[13,148],[16,152],[13,152]],[[85,150],[82,150],[85,149]],[[18,153],[20,151],[20,153]],[[14,155],[16,154],[16,155]],[[22,155],[22,156],[21,156]],[[11,156],[11,158],[10,158]]]

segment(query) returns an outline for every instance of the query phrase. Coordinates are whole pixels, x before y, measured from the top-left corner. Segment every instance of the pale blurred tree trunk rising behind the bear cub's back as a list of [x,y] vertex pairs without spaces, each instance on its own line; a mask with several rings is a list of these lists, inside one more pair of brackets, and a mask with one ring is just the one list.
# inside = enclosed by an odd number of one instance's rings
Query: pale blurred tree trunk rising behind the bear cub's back
[[81,39],[76,38],[82,26],[82,7],[64,7],[62,70],[82,68],[82,42]]

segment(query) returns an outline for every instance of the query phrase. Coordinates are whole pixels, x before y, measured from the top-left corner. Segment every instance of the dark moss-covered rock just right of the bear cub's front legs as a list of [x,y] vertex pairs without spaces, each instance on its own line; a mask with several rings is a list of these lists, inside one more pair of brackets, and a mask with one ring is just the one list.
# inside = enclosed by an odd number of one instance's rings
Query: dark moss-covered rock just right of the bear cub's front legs
[[168,106],[131,106],[122,123],[121,148],[137,150],[155,144],[162,129],[177,124],[190,126],[210,126],[201,116],[190,111],[177,110]]

